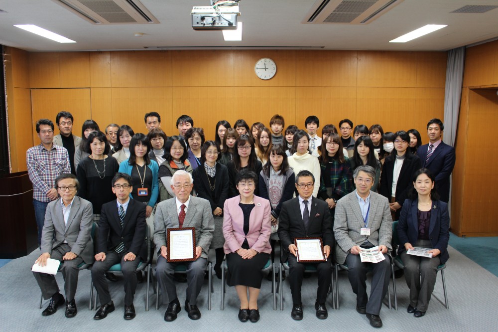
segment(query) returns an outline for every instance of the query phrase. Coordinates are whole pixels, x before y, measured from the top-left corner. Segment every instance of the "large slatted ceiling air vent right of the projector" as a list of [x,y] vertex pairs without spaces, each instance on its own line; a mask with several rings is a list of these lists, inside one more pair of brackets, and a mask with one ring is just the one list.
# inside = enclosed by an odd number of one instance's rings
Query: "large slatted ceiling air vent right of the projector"
[[318,0],[302,23],[366,24],[403,0]]

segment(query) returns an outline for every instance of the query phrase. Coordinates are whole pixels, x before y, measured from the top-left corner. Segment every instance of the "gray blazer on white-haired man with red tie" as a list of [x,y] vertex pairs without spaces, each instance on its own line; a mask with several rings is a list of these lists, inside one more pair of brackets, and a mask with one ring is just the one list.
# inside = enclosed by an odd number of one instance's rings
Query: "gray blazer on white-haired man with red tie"
[[[159,251],[166,246],[166,229],[180,227],[176,198],[157,203],[154,215],[154,243]],[[195,227],[195,245],[202,248],[201,257],[208,258],[209,246],[215,231],[211,204],[207,199],[190,195],[183,227]]]

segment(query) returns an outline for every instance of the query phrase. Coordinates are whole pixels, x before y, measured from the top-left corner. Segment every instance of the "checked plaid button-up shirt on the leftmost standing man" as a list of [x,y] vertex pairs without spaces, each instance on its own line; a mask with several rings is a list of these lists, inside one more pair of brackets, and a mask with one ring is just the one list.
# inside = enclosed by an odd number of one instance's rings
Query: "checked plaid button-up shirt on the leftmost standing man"
[[33,199],[40,202],[50,202],[47,191],[55,186],[55,178],[71,172],[67,150],[55,144],[50,151],[42,144],[29,148],[26,164],[29,179],[33,183]]

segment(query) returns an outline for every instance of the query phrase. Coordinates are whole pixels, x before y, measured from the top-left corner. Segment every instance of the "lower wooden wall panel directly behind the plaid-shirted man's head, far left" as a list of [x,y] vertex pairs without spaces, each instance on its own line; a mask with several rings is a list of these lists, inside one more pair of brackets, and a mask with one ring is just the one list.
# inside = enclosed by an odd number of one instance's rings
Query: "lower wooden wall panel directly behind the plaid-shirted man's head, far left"
[[36,136],[36,121],[48,118],[54,122],[55,135],[59,134],[55,117],[60,111],[68,111],[74,117],[73,133],[81,136],[83,122],[91,119],[90,89],[31,89],[33,119],[33,145],[40,144]]

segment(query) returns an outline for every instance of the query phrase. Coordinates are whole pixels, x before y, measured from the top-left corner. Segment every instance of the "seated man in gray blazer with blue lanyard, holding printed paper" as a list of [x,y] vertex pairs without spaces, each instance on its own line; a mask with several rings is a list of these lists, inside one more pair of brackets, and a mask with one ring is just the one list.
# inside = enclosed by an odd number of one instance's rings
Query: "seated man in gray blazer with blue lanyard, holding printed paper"
[[[365,315],[374,328],[382,327],[379,313],[389,285],[392,221],[387,198],[371,191],[375,169],[359,166],[353,178],[356,190],[339,199],[335,211],[334,234],[337,241],[336,261],[349,268],[349,281],[356,294],[356,310]],[[362,263],[361,248],[378,249],[384,260]],[[372,268],[370,299],[367,296],[367,271]]]

